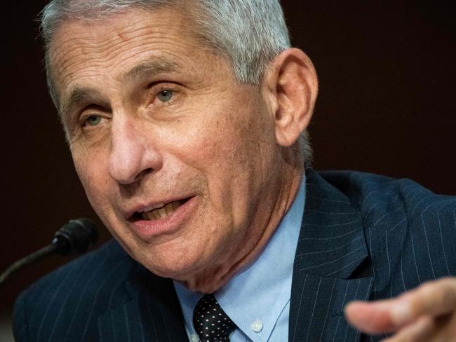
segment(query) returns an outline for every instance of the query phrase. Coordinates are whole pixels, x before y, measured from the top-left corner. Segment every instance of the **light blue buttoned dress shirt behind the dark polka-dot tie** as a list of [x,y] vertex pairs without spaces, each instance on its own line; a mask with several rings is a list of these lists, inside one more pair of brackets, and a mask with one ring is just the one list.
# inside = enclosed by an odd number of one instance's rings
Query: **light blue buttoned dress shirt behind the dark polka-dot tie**
[[[215,292],[215,298],[238,329],[232,342],[288,341],[291,280],[305,203],[305,175],[288,213],[283,217],[260,257]],[[174,283],[189,341],[199,341],[193,328],[193,310],[201,296]]]

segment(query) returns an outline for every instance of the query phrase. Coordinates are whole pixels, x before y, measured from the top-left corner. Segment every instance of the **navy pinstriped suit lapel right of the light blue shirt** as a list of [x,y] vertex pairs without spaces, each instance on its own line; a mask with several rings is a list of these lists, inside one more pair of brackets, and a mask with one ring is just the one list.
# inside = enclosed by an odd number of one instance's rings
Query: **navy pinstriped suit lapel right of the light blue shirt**
[[343,317],[348,301],[369,298],[372,278],[349,280],[368,257],[361,214],[348,198],[307,170],[288,336],[295,341],[358,341]]

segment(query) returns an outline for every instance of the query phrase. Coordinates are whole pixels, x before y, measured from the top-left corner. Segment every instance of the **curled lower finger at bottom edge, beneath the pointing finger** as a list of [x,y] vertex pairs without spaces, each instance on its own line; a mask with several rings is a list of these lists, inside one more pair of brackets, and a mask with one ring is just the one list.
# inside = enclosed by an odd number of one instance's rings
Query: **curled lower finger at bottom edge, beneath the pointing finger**
[[433,318],[424,316],[404,327],[394,336],[382,340],[382,342],[429,342],[435,329]]

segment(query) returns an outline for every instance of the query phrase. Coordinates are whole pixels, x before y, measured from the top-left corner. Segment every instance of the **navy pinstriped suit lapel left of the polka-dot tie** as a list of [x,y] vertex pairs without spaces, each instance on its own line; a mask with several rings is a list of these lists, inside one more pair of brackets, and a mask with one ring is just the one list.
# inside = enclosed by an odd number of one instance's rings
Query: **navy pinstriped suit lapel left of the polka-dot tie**
[[98,318],[100,341],[187,341],[173,282],[138,267],[126,299]]

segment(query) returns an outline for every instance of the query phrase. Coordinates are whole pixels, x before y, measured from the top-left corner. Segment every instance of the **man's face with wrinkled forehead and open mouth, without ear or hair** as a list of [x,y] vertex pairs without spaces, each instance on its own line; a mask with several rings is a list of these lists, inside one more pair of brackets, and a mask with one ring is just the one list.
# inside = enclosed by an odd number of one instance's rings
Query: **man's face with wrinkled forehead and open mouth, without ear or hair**
[[274,117],[188,19],[66,22],[51,68],[83,187],[133,258],[190,281],[255,247],[281,187]]

